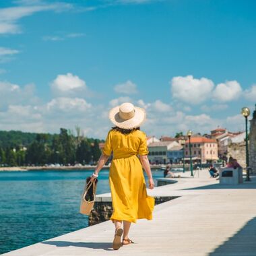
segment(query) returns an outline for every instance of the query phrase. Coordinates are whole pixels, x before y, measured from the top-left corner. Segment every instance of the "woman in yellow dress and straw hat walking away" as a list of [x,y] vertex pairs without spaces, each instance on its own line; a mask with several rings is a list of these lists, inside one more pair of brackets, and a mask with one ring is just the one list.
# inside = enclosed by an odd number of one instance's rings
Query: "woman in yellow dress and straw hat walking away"
[[135,223],[137,219],[143,218],[152,220],[154,197],[147,195],[141,164],[148,174],[150,189],[154,189],[154,181],[148,161],[146,134],[139,129],[146,119],[145,110],[131,103],[123,103],[112,108],[108,116],[115,127],[108,132],[102,155],[91,179],[93,181],[98,177],[98,172],[113,154],[109,170],[113,203],[110,220],[115,224],[113,249],[116,250],[121,245],[133,243],[128,236],[131,222]]

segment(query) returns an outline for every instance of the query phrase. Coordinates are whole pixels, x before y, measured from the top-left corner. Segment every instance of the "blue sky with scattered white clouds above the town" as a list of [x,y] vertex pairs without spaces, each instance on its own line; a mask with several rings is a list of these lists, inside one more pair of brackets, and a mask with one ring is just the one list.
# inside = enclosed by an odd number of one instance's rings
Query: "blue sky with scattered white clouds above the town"
[[255,1],[0,2],[0,129],[104,137],[146,108],[148,135],[242,130],[256,103]]

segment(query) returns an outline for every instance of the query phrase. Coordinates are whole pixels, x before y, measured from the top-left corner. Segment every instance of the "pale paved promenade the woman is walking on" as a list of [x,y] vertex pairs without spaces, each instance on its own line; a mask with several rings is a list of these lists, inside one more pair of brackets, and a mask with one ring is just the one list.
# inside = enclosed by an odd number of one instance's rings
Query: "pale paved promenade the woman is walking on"
[[[194,178],[189,172],[182,176],[148,190],[152,196],[177,198],[156,205],[152,221],[132,224],[129,236],[135,244],[113,251],[114,227],[106,221],[3,255],[255,256],[256,177],[220,185],[207,170],[197,170]],[[109,197],[98,195],[98,201]]]

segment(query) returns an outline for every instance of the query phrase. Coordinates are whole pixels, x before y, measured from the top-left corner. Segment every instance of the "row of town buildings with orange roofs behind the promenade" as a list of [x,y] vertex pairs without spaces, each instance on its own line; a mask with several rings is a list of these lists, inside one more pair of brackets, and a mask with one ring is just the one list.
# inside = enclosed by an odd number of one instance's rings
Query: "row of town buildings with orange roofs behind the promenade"
[[[228,160],[230,156],[244,160],[240,144],[245,141],[245,132],[232,133],[226,129],[217,128],[210,134],[191,136],[191,158],[194,163],[209,163]],[[238,148],[236,150],[235,148]],[[190,161],[189,139],[187,136],[148,137],[148,158],[152,164],[179,164]],[[237,154],[236,154],[237,151]],[[236,156],[237,155],[237,156]],[[243,163],[242,163],[243,164]]]

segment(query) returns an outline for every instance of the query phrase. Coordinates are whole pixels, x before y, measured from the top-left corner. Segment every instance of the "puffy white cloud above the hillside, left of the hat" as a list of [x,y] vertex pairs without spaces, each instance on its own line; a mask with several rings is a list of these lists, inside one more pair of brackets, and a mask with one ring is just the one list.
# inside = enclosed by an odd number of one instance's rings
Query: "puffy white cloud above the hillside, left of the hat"
[[84,96],[87,86],[86,82],[77,75],[67,73],[66,75],[57,75],[51,83],[51,89],[57,96]]

